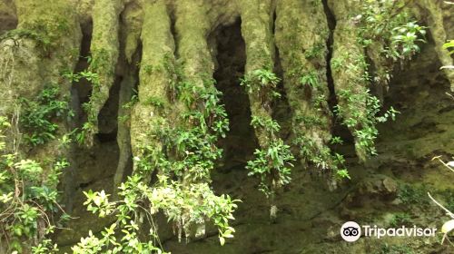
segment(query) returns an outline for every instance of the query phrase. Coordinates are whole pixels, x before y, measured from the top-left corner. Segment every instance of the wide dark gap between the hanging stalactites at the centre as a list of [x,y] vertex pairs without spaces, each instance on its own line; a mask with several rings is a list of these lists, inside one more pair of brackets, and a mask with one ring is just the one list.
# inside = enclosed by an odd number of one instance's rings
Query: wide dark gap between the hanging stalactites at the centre
[[229,115],[230,132],[219,143],[224,151],[220,169],[245,164],[258,147],[250,124],[251,109],[248,94],[240,86],[246,64],[245,44],[242,39],[241,20],[218,27],[212,36],[217,44],[217,69],[214,73],[216,88],[223,93],[222,103]]

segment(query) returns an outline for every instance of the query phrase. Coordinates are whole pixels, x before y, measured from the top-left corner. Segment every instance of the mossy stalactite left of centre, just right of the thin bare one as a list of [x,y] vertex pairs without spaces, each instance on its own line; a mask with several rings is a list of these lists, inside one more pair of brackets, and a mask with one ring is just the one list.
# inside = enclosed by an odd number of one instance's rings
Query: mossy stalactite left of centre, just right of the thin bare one
[[[163,105],[170,105],[167,96],[167,89],[173,83],[175,77],[172,73],[172,64],[169,68],[163,68],[163,63],[168,62],[169,56],[173,56],[174,42],[171,32],[171,20],[167,13],[167,6],[164,1],[147,3],[143,6],[143,30],[141,35],[143,44],[142,63],[139,73],[139,89],[133,105],[131,115],[131,144],[133,156],[143,157],[144,148],[152,147],[155,152],[162,150],[162,143],[153,133],[158,132],[166,126],[165,118],[172,121],[168,108],[156,109],[150,102],[160,102]],[[153,66],[148,67],[148,66]],[[150,71],[153,69],[153,71]],[[159,69],[159,71],[158,71]],[[173,107],[176,114],[178,107]],[[163,116],[166,116],[165,118]],[[151,134],[151,136],[148,136]],[[137,170],[137,166],[134,165]]]

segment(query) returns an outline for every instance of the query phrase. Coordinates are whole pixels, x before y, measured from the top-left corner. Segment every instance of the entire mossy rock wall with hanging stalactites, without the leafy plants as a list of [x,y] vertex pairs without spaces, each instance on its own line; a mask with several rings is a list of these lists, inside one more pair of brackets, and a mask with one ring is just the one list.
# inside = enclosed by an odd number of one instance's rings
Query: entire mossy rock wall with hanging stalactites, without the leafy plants
[[[15,99],[33,99],[45,83],[59,83],[62,96],[72,95],[79,114],[72,122],[58,122],[57,138],[87,119],[99,123],[90,133],[92,147],[60,151],[55,141],[30,152],[40,160],[64,153],[74,162],[64,176],[63,189],[67,204],[73,205],[72,209],[68,205],[71,215],[79,219],[54,239],[69,251],[88,230],[99,232],[113,221],[86,211],[82,191],[104,189],[115,197],[115,188],[137,172],[133,157],[148,152],[144,147],[156,154],[169,150],[156,133],[169,126],[191,127],[182,115],[193,108],[203,110],[179,101],[178,86],[192,83],[202,89],[210,83],[211,89],[223,93],[221,103],[229,114],[231,132],[212,142],[224,153],[209,181],[217,194],[242,200],[233,222],[235,238],[221,247],[217,230],[207,224],[204,239],[180,244],[160,217],[164,249],[173,253],[449,251],[437,239],[360,239],[349,245],[339,235],[346,220],[389,225],[402,213],[420,225],[439,226],[436,218],[443,214],[429,206],[424,191],[452,202],[452,174],[430,159],[442,155],[443,160],[451,160],[454,153],[454,107],[445,94],[452,75],[439,71],[441,65],[452,64],[440,45],[454,31],[454,23],[442,1],[410,2],[418,2],[409,8],[429,26],[429,43],[410,63],[402,64],[405,68],[395,66],[390,90],[382,97],[385,108],[393,106],[400,114],[396,122],[380,123],[379,155],[367,160],[358,146],[355,153],[354,135],[361,126],[342,127],[333,112],[336,105],[365,112],[365,101],[349,105],[339,96],[342,90],[356,94],[370,88],[361,75],[374,62],[366,59],[373,53],[368,55],[358,42],[359,24],[351,18],[357,15],[358,1],[0,2],[0,35],[6,32],[0,41],[0,112],[10,114]],[[79,59],[88,55],[94,62]],[[339,59],[341,66],[334,68]],[[350,72],[348,66],[356,71]],[[281,79],[274,91],[281,93],[279,100],[263,99],[240,86],[240,78],[257,70]],[[99,80],[84,81],[83,91],[77,87],[81,83],[71,87],[61,75],[64,71],[90,71]],[[91,109],[84,112],[82,103],[89,103]],[[269,135],[252,128],[252,116],[277,120],[281,131]],[[333,135],[341,136],[344,143],[332,144]],[[291,183],[276,190],[273,200],[266,200],[245,165],[256,149],[267,149],[276,140],[293,145],[297,137],[309,139],[315,155],[342,152],[351,180],[339,181],[330,167],[315,165],[317,161],[302,155],[292,169]],[[291,151],[301,154],[304,145],[293,145]],[[365,163],[358,163],[358,157]],[[146,176],[147,184],[155,180],[155,173]],[[270,178],[276,174],[272,172]],[[409,191],[402,196],[405,188]],[[272,221],[270,206],[277,208]]]

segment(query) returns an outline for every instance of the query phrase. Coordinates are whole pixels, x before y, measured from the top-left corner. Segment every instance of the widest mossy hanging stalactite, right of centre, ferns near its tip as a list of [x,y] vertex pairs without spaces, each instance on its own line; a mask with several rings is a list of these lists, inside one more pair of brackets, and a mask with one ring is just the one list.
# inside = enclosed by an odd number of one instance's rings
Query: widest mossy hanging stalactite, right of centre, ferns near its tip
[[[320,31],[329,28],[323,5],[320,1],[283,0],[278,2],[276,12],[276,44],[293,114],[292,132],[296,137],[293,144],[299,149],[304,165],[337,169],[327,146],[331,139],[331,114],[324,62],[329,34]],[[314,19],[318,22],[313,22]]]

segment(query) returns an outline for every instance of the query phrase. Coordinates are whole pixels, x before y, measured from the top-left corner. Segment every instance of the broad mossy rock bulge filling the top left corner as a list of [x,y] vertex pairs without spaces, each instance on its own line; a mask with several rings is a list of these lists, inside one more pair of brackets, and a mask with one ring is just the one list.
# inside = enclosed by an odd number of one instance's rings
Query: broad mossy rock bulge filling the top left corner
[[12,112],[15,98],[33,99],[45,83],[61,83],[61,72],[74,68],[81,39],[73,5],[65,1],[17,1],[15,15],[17,28],[2,41],[1,96],[9,102],[2,104],[3,113]]

